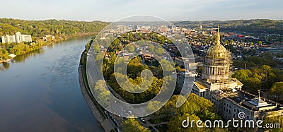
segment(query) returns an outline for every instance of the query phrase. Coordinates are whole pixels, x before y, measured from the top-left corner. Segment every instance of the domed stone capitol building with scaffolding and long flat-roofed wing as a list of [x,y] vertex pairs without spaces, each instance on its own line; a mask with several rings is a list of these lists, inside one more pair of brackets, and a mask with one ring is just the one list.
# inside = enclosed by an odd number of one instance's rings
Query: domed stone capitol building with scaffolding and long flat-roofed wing
[[218,28],[215,44],[207,50],[202,76],[195,79],[191,92],[212,101],[223,119],[238,118],[240,112],[246,114],[246,120],[255,121],[269,114],[282,115],[282,104],[241,90],[243,83],[231,78],[231,66],[231,53],[221,44]]

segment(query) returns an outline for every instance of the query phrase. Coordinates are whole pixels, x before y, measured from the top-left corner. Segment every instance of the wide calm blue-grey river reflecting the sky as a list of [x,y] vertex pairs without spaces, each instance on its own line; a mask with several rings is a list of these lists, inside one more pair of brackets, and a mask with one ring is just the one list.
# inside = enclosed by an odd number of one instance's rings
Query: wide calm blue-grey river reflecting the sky
[[0,131],[103,131],[79,86],[91,36],[74,37],[0,64]]

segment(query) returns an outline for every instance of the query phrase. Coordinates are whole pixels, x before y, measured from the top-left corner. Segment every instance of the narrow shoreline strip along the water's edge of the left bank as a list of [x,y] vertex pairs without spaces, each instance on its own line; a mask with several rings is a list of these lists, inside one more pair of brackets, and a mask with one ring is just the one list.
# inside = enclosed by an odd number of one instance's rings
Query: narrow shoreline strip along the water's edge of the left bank
[[[52,40],[51,42],[46,42],[45,44],[40,45],[40,47],[35,48],[33,50],[30,50],[29,52],[25,52],[24,54],[28,54],[30,52],[33,52],[33,51],[37,50],[37,49],[41,49],[42,47],[45,47],[45,46],[50,45],[50,44],[55,44],[57,42],[61,42],[61,41],[64,41],[64,40],[69,40],[72,37],[79,37],[79,36],[84,36],[84,35],[96,35],[97,33],[98,32],[86,32],[86,33],[79,33],[79,34],[74,34],[74,35],[68,35],[67,37],[62,38],[62,39],[57,39],[57,40]],[[9,54],[11,54],[11,53],[9,53]],[[23,54],[17,54],[17,56],[21,56],[21,55],[23,55]],[[10,58],[10,59],[13,59],[13,58]],[[10,59],[1,59],[0,60],[0,64],[8,63],[8,61]]]

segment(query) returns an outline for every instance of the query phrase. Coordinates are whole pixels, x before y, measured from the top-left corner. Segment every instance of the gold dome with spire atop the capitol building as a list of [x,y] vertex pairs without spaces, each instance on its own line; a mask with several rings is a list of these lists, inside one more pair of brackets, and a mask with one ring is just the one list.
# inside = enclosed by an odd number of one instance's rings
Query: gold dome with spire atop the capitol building
[[216,35],[215,44],[209,47],[207,50],[207,56],[212,58],[224,58],[226,56],[226,49],[225,47],[220,44],[220,35],[219,35],[219,28]]

